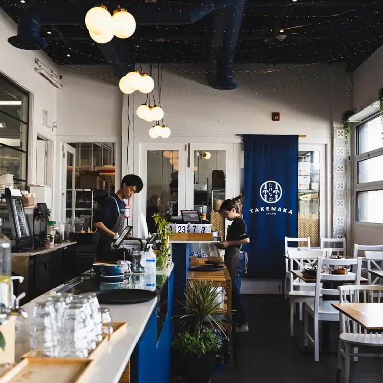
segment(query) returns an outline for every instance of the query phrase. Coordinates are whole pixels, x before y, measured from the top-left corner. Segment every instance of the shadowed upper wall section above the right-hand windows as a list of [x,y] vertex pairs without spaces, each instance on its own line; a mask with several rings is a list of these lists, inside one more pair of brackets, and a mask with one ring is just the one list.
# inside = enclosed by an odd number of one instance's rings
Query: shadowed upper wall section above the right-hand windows
[[376,102],[383,86],[383,47],[378,49],[352,74],[354,108],[357,112]]

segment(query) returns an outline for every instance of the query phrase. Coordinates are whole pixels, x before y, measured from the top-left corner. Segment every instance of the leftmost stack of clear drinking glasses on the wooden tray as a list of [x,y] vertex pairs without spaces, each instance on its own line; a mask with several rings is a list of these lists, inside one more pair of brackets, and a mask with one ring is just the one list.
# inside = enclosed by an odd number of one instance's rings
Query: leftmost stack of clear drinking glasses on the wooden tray
[[53,302],[37,302],[31,322],[30,347],[34,357],[57,356],[57,326]]

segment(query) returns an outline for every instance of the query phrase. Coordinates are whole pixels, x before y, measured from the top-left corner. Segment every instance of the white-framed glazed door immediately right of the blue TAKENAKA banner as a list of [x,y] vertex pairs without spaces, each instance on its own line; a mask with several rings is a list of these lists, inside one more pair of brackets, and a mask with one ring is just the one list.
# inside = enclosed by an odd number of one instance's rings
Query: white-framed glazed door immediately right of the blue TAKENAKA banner
[[331,201],[327,200],[327,145],[299,144],[299,162],[310,162],[309,174],[298,174],[298,236],[310,237],[311,245],[320,246],[320,237],[332,234]]

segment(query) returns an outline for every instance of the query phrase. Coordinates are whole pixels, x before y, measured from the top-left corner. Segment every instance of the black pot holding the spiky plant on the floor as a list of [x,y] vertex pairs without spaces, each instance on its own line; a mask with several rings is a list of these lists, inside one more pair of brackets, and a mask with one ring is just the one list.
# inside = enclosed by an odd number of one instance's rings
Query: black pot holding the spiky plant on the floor
[[215,352],[202,354],[178,354],[178,362],[182,377],[187,383],[209,383],[214,371]]

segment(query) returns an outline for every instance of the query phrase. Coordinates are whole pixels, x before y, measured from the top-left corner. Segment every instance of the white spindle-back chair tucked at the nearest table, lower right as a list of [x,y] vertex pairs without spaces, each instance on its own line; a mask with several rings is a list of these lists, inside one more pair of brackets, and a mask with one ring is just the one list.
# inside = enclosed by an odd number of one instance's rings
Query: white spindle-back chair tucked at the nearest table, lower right
[[[383,286],[339,286],[339,302],[377,302],[383,301]],[[360,294],[363,292],[363,294]],[[346,315],[340,313],[339,351],[336,383],[340,383],[342,364],[344,358],[343,381],[350,381],[350,362],[351,357],[383,357],[383,352],[379,354],[358,353],[358,347],[355,346],[383,346],[382,334],[367,333],[362,327],[351,320]],[[353,353],[351,353],[353,347]]]

